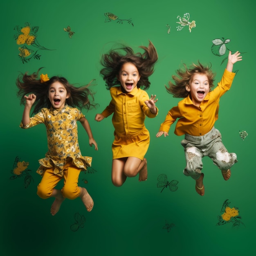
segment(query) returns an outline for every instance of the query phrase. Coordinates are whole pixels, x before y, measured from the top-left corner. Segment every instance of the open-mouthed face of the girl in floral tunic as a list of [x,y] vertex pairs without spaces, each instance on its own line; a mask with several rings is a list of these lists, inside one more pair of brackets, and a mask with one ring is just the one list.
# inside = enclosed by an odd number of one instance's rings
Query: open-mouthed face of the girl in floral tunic
[[54,108],[61,109],[65,107],[66,99],[68,99],[70,95],[67,94],[65,86],[56,81],[50,85],[48,97]]

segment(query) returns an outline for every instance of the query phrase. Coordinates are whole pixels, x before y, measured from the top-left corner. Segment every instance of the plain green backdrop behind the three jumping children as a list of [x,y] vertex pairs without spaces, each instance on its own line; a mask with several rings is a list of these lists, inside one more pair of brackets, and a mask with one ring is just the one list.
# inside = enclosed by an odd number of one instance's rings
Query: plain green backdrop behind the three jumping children
[[[14,255],[254,255],[255,249],[255,171],[253,159],[255,140],[255,3],[253,0],[73,0],[73,1],[4,1],[1,3],[1,218],[0,254]],[[117,20],[105,22],[104,13],[111,12],[120,19],[131,18],[134,26]],[[177,16],[190,13],[196,27],[177,31]],[[13,38],[16,26],[38,26],[37,40],[52,51],[39,50],[40,60],[22,63]],[[171,26],[167,34],[166,24]],[[75,34],[70,39],[63,28]],[[243,52],[243,61],[234,65],[239,70],[232,88],[220,101],[216,128],[229,150],[238,156],[231,179],[223,179],[220,170],[209,158],[204,158],[205,195],[195,192],[195,182],[183,175],[185,166],[182,136],[156,138],[159,125],[168,110],[180,99],[168,94],[164,85],[182,67],[200,60],[212,64],[216,82],[221,79],[227,56],[211,52],[212,40],[229,38],[227,48]],[[148,94],[159,99],[159,115],[146,119],[151,141],[148,153],[148,180],[128,178],[119,188],[111,183],[113,126],[111,117],[100,123],[94,121],[110,101],[103,79],[99,76],[99,60],[115,43],[126,43],[135,52],[139,45],[151,40],[159,54],[155,72],[150,76]],[[30,46],[31,49],[34,49]],[[35,49],[34,49],[35,50]],[[94,199],[94,209],[88,213],[80,199],[65,200],[56,216],[51,216],[53,199],[42,200],[36,195],[40,176],[36,174],[38,159],[47,151],[45,127],[19,128],[23,106],[16,96],[19,72],[43,73],[50,77],[65,76],[70,83],[80,85],[97,80],[97,109],[83,111],[90,122],[99,151],[90,148],[88,136],[79,125],[79,143],[83,155],[93,157],[94,173],[81,173],[79,185],[85,186]],[[246,130],[248,137],[240,138]],[[31,181],[25,189],[24,177],[11,180],[16,156],[29,162]],[[157,177],[166,174],[168,181],[177,180],[178,189],[157,188]],[[84,180],[88,184],[84,184]],[[238,229],[232,223],[216,226],[223,202],[238,207],[242,217]],[[70,226],[79,213],[86,221],[75,232]],[[175,224],[170,232],[165,223]]]

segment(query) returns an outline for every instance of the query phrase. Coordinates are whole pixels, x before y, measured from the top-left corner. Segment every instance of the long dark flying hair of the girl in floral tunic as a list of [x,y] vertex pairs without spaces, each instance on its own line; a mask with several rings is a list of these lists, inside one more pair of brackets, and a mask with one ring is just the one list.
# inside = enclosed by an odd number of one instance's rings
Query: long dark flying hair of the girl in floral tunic
[[25,74],[20,73],[16,79],[16,85],[18,87],[17,96],[21,97],[20,105],[25,105],[25,95],[34,93],[36,95],[36,101],[33,105],[32,114],[38,113],[42,108],[50,108],[52,106],[48,98],[49,87],[52,83],[59,82],[67,90],[67,94],[70,95],[66,99],[66,103],[69,106],[79,108],[85,108],[87,110],[95,107],[97,104],[94,103],[94,92],[89,89],[90,85],[95,85],[95,79],[90,81],[89,84],[81,87],[75,87],[70,84],[67,79],[61,76],[52,76],[49,81],[41,83],[40,78],[38,79],[38,72],[42,69],[40,67],[37,72],[29,75],[28,72]]

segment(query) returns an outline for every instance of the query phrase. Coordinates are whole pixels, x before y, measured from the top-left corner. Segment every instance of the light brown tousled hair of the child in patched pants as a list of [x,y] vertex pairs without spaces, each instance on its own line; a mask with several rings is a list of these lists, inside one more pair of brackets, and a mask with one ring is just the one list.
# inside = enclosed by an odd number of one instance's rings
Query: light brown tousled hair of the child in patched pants
[[186,85],[191,82],[195,74],[206,75],[209,81],[210,91],[214,88],[213,82],[215,74],[212,72],[211,66],[203,66],[199,61],[198,65],[193,63],[189,68],[187,68],[186,64],[183,65],[185,67],[184,69],[180,68],[176,71],[178,76],[172,76],[175,83],[169,81],[169,86],[167,87],[165,85],[167,92],[173,94],[174,98],[186,98],[190,94],[190,92],[186,90]]

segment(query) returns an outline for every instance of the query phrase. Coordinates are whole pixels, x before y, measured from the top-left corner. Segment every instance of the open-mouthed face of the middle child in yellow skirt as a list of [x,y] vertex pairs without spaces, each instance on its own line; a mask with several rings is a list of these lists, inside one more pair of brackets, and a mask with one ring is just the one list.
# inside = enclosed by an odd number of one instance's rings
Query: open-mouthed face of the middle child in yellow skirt
[[126,92],[132,92],[132,90],[137,87],[137,83],[140,79],[139,71],[132,63],[124,63],[119,71],[117,79],[120,81]]

